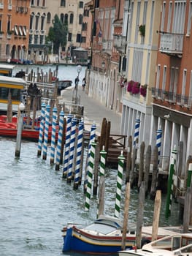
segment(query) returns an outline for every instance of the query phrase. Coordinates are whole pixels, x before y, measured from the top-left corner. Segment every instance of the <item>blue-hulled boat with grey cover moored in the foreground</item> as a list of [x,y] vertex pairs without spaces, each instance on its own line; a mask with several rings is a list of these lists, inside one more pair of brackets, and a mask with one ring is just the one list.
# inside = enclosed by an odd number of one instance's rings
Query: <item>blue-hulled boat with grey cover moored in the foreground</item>
[[[126,249],[136,244],[135,225],[129,223],[126,233]],[[62,230],[64,237],[63,252],[80,252],[88,254],[109,255],[117,253],[122,244],[123,222],[116,217],[101,215],[91,225],[82,227],[69,223]],[[168,229],[158,230],[158,238],[168,236]],[[142,245],[150,242],[152,227],[142,228]]]

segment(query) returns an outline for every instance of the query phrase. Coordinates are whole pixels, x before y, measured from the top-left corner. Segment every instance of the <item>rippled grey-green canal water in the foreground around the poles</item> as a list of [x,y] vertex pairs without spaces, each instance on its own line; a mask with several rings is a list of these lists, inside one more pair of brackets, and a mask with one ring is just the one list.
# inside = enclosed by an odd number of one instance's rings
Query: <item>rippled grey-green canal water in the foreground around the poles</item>
[[[62,168],[55,171],[47,160],[37,157],[37,143],[23,140],[20,158],[15,158],[15,140],[0,137],[0,255],[58,256],[62,253],[61,229],[67,222],[88,224],[96,218],[96,198],[85,212],[83,186],[74,191],[73,184],[62,179]],[[105,214],[114,215],[117,170],[107,170]],[[82,183],[83,184],[83,183]],[[123,217],[123,195],[120,217]],[[129,222],[136,222],[137,189],[131,189]],[[160,225],[178,225],[178,205],[172,204],[172,216],[164,218],[162,198]],[[145,201],[144,224],[153,220],[153,200]],[[65,255],[74,255],[73,253]]]

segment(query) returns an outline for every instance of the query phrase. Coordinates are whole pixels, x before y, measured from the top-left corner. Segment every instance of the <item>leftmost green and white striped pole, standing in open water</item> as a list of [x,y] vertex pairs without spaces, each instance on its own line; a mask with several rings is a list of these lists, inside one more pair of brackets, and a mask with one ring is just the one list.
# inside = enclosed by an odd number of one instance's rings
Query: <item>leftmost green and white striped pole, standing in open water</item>
[[85,211],[89,211],[90,203],[91,203],[91,187],[92,187],[92,180],[93,180],[95,154],[96,154],[96,143],[92,142],[90,157],[88,162],[88,184],[87,184],[87,190],[86,190]]

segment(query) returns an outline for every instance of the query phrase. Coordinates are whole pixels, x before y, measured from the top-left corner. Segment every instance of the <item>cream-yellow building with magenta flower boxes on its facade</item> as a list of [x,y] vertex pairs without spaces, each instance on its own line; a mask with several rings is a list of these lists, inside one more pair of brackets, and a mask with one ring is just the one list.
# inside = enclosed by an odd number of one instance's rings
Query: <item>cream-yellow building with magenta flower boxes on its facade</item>
[[[134,138],[135,121],[139,119],[139,141],[150,143],[152,117],[151,88],[155,84],[161,0],[128,1],[126,69],[123,76],[123,111],[121,134]],[[125,65],[125,66],[124,66]],[[157,127],[156,127],[157,128]]]

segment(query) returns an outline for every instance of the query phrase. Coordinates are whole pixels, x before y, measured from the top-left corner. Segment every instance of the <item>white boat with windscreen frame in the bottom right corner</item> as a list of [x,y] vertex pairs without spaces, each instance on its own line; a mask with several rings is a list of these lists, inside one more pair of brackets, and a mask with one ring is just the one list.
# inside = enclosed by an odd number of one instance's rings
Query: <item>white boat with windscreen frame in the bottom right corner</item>
[[142,249],[122,250],[119,256],[192,256],[192,233],[177,233],[157,239]]

